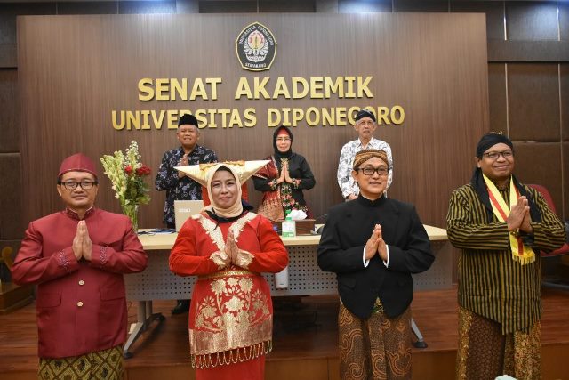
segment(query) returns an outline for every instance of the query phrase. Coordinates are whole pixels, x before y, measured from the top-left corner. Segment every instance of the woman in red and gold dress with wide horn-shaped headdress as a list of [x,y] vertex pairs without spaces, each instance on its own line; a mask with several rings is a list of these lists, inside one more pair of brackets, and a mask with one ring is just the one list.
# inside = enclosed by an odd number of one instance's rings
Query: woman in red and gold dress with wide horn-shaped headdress
[[288,255],[268,219],[241,201],[241,184],[266,161],[259,163],[179,168],[206,186],[212,202],[188,219],[170,254],[172,272],[198,276],[188,323],[198,380],[264,377],[273,308],[260,273],[282,271]]

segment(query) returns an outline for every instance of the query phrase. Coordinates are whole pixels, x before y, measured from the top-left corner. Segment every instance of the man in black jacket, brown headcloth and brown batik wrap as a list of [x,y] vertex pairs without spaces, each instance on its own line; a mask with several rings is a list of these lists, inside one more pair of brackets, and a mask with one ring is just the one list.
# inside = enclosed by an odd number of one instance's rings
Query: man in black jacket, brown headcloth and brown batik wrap
[[385,151],[357,152],[352,177],[359,194],[330,209],[317,256],[338,279],[341,378],[411,379],[411,274],[435,259],[429,236],[413,205],[385,196]]

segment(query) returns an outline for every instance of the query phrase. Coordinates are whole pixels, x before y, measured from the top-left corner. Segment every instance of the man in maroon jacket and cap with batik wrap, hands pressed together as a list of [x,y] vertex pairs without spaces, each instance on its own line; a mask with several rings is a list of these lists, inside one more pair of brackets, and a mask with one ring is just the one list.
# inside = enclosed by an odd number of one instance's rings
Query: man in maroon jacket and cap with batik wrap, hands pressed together
[[12,267],[14,282],[37,284],[40,379],[123,378],[123,273],[143,271],[147,255],[128,217],[93,206],[98,189],[90,158],[65,158],[66,208],[29,223]]

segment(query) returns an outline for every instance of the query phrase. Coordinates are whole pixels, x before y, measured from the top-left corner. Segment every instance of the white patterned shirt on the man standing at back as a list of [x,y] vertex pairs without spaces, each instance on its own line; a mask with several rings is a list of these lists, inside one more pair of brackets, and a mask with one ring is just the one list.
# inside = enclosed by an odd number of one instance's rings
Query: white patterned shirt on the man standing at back
[[388,175],[388,188],[393,182],[393,157],[391,156],[391,147],[385,141],[377,140],[372,137],[372,140],[365,146],[359,139],[349,141],[341,148],[340,161],[338,163],[338,186],[340,186],[342,197],[346,198],[349,194],[358,195],[359,186],[352,177],[352,169],[356,153],[360,150],[384,150],[388,155],[389,160],[389,175]]

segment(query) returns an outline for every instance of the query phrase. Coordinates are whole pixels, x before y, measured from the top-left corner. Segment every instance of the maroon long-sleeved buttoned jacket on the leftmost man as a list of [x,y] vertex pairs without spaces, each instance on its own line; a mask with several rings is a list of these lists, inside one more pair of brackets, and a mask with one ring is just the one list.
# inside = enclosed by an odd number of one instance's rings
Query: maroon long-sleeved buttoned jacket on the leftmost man
[[92,207],[84,216],[91,262],[71,248],[77,214],[65,210],[30,222],[12,267],[17,284],[37,284],[40,358],[63,358],[123,344],[123,273],[144,271],[148,256],[128,217]]

